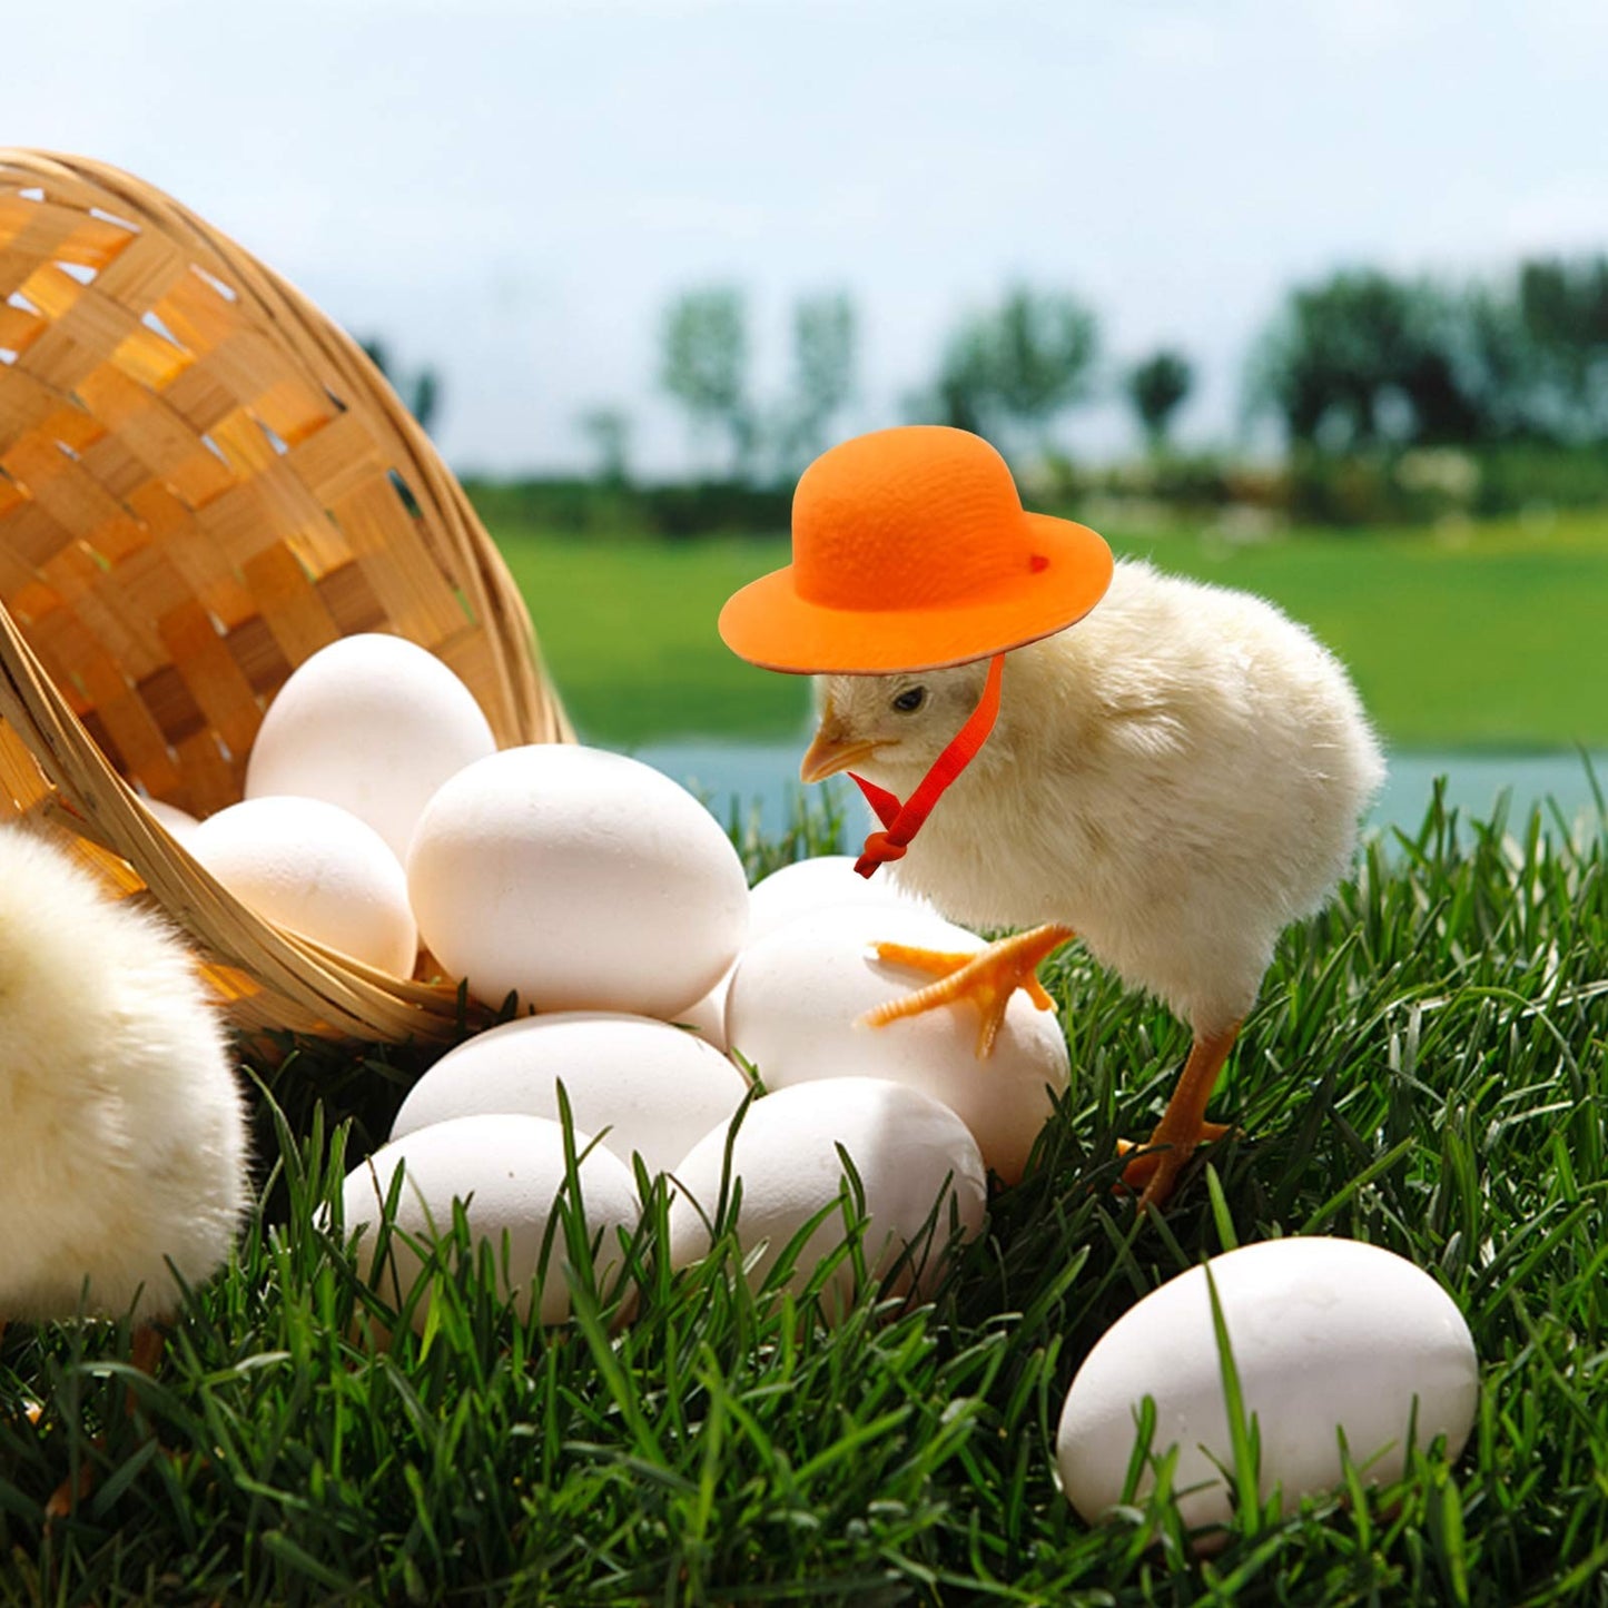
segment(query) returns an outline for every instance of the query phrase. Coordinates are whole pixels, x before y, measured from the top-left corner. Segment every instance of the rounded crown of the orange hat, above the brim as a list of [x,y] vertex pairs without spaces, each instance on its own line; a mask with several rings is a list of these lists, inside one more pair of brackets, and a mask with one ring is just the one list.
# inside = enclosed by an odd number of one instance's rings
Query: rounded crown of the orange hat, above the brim
[[965,429],[857,436],[822,453],[793,494],[794,585],[827,608],[941,608],[1039,564],[1010,466]]

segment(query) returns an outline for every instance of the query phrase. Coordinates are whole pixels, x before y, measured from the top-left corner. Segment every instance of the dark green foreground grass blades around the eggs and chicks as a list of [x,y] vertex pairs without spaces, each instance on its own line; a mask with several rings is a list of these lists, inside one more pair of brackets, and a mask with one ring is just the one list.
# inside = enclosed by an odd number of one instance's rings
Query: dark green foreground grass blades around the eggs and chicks
[[[1164,1219],[1108,1185],[1183,1031],[1063,952],[1074,1081],[1036,1166],[931,1306],[868,1291],[830,1331],[749,1296],[728,1237],[671,1274],[659,1195],[617,1331],[584,1275],[544,1331],[445,1254],[429,1336],[359,1343],[389,1312],[317,1214],[429,1056],[297,1048],[262,1069],[262,1209],[132,1381],[137,1421],[124,1333],[0,1343],[0,1602],[1608,1602],[1608,836],[1544,827],[1436,809],[1368,847],[1285,934],[1214,1101],[1241,1137]],[[1082,1524],[1053,1436],[1095,1339],[1227,1240],[1314,1232],[1412,1257],[1468,1317],[1463,1457],[1248,1508],[1209,1560],[1163,1512]],[[98,1489],[47,1532],[82,1462]]]

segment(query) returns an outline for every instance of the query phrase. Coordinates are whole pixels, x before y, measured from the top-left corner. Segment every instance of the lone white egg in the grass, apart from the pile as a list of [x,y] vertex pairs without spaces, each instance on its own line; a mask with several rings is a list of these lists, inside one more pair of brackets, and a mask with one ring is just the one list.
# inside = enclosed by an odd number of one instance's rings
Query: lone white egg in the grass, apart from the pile
[[[1211,1259],[1246,1420],[1261,1434],[1261,1494],[1293,1508],[1343,1479],[1344,1430],[1364,1479],[1396,1479],[1409,1430],[1457,1455],[1475,1421],[1479,1360],[1452,1298],[1391,1251],[1356,1240],[1291,1238]],[[1155,1455],[1177,1446],[1172,1486],[1190,1526],[1225,1524],[1233,1495],[1229,1413],[1206,1270],[1153,1290],[1100,1338],[1066,1394],[1056,1436],[1061,1484],[1098,1521],[1118,1500],[1143,1397],[1156,1404]],[[1212,1462],[1216,1458],[1216,1463]],[[1138,1495],[1153,1489],[1147,1470]]]

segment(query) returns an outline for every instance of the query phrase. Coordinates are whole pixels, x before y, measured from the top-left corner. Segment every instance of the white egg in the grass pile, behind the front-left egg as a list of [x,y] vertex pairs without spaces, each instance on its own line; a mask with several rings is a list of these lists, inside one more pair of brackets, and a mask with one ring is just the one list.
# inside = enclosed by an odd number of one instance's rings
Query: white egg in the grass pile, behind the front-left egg
[[638,1151],[666,1172],[748,1093],[748,1079],[696,1034],[646,1016],[556,1011],[466,1039],[413,1085],[391,1129],[471,1113],[521,1111],[558,1119],[558,1084],[576,1127],[621,1161]]

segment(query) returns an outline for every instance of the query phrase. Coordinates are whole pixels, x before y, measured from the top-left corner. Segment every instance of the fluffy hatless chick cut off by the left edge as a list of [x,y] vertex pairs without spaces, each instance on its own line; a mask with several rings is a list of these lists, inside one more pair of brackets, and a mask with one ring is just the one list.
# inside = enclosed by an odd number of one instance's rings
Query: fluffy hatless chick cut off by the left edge
[[164,1317],[228,1256],[246,1114],[190,955],[0,830],[0,1323]]

